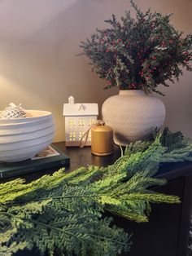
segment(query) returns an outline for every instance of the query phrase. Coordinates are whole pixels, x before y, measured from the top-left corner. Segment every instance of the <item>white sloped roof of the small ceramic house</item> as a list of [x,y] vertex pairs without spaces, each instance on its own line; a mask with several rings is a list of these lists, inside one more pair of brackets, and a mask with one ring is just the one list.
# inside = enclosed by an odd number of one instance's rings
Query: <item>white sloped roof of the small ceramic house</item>
[[97,116],[98,104],[96,103],[76,103],[63,104],[63,116]]

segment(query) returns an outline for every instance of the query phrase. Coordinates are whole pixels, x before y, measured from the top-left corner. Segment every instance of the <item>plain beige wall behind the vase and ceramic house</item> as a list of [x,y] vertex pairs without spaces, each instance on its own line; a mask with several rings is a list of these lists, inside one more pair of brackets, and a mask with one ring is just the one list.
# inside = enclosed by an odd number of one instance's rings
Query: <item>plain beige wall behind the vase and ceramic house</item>
[[[136,0],[145,10],[173,12],[172,23],[191,32],[191,0]],[[98,102],[115,90],[90,72],[89,60],[76,57],[80,41],[103,27],[111,13],[129,8],[125,0],[1,0],[0,1],[0,109],[10,102],[25,108],[47,109],[55,117],[55,141],[64,139],[63,103]],[[163,89],[164,90],[164,89]],[[164,90],[165,125],[192,137],[192,73]]]

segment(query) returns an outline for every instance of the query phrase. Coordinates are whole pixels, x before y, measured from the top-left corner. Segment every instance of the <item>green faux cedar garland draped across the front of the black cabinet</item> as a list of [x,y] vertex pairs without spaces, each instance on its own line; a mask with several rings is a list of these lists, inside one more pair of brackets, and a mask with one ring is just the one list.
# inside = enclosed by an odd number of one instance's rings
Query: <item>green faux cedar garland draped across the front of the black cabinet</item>
[[117,255],[129,251],[130,236],[104,218],[110,211],[148,221],[151,203],[179,203],[153,192],[162,162],[192,161],[192,145],[168,129],[153,141],[131,143],[111,166],[59,170],[32,183],[0,184],[0,255],[37,248],[49,255]]

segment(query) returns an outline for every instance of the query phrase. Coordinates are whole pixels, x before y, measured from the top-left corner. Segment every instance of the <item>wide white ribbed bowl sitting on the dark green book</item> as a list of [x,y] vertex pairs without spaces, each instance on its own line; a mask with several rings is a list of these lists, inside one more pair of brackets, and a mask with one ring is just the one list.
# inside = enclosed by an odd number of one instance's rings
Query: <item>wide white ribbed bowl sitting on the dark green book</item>
[[50,145],[55,134],[52,113],[28,110],[32,117],[0,119],[0,161],[24,161]]

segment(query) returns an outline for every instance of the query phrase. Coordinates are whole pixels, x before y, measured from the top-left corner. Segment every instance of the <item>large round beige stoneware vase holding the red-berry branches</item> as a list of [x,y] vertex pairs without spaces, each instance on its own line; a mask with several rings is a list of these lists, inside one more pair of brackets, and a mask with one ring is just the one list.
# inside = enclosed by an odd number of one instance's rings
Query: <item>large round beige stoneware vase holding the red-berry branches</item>
[[120,90],[102,107],[103,121],[114,130],[114,142],[126,145],[147,139],[164,124],[164,103],[142,90]]

